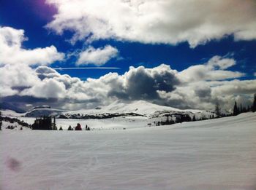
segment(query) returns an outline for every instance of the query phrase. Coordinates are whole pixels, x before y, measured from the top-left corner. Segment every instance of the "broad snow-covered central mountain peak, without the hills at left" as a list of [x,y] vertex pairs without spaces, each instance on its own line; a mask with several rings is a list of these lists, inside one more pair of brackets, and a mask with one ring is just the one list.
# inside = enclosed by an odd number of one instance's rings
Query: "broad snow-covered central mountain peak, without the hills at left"
[[196,109],[181,110],[170,106],[159,106],[149,103],[145,100],[136,100],[132,103],[113,102],[108,106],[97,107],[94,109],[85,109],[79,111],[67,111],[62,117],[83,118],[83,119],[101,119],[115,116],[145,116],[147,118],[172,116],[174,114],[188,115],[191,118],[195,115],[197,118],[202,116],[209,117],[214,115],[211,111],[202,111]]

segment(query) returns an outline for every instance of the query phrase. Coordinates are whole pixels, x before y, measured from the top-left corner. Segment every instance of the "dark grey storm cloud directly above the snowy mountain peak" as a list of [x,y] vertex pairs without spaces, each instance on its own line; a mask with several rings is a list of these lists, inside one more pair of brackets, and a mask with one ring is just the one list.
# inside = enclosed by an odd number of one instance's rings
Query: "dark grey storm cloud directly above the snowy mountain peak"
[[171,92],[180,83],[176,77],[176,71],[171,70],[169,66],[164,64],[151,69],[143,66],[130,68],[124,76],[124,88],[119,88],[119,91],[112,89],[109,95],[121,99],[154,100],[159,98],[158,90]]

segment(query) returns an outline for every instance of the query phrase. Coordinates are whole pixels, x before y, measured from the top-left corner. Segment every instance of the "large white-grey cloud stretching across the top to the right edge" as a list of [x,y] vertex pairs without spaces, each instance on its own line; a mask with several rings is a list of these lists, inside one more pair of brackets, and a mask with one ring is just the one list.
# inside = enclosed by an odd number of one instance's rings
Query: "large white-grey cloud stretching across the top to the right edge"
[[118,39],[190,47],[233,34],[256,39],[254,0],[47,0],[58,9],[48,23],[56,33],[73,31],[71,41]]

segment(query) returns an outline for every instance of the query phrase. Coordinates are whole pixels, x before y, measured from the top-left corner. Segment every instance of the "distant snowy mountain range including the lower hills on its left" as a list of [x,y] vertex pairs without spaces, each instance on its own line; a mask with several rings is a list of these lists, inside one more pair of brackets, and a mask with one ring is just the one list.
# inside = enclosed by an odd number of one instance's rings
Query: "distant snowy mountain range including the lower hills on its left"
[[[4,114],[4,113],[3,113]],[[13,114],[8,112],[8,115]],[[176,120],[177,116],[189,116],[191,119],[209,118],[215,116],[213,111],[197,109],[178,109],[170,106],[159,106],[145,100],[135,100],[132,103],[115,101],[108,106],[100,106],[92,109],[78,111],[65,111],[55,108],[38,107],[22,114],[26,117],[56,116],[63,119],[108,119],[120,116],[143,116],[145,119],[167,118]],[[17,116],[14,114],[13,116]],[[21,116],[21,115],[19,115]]]

